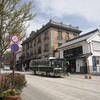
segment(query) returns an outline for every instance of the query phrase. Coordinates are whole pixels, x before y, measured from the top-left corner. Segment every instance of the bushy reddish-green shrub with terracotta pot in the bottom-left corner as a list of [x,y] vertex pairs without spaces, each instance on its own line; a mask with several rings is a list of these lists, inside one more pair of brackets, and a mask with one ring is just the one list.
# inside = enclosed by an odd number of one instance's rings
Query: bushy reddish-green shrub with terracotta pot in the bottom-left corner
[[20,73],[10,73],[3,74],[2,76],[2,82],[0,85],[1,98],[4,98],[4,100],[18,100],[22,89],[27,83],[25,75]]

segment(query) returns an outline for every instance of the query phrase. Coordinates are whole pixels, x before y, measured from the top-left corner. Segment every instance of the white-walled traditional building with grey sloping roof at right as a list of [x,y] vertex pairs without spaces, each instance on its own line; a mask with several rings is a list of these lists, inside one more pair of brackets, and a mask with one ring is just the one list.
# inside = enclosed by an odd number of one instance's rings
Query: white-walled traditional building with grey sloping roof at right
[[61,58],[69,61],[71,73],[100,73],[100,32],[80,35],[58,48]]

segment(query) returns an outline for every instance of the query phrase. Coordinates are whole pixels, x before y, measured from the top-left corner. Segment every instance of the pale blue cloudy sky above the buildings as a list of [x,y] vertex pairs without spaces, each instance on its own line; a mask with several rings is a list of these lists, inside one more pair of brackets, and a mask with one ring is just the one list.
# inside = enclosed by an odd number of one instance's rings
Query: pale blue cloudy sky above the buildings
[[34,0],[33,4],[32,13],[36,17],[28,23],[27,36],[50,19],[78,26],[82,34],[100,29],[100,0]]

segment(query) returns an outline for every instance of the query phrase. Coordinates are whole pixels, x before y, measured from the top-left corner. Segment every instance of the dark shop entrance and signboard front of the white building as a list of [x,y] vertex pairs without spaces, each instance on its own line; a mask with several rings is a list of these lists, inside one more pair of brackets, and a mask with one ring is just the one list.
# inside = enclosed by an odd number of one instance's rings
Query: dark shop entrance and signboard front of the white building
[[63,57],[69,62],[68,71],[71,73],[87,73],[86,56],[82,46],[63,51]]

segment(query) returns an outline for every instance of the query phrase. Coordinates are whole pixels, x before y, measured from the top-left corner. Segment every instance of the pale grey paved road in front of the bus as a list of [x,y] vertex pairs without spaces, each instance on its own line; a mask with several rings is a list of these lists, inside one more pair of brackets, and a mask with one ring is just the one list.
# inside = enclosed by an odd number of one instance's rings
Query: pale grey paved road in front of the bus
[[100,76],[53,78],[25,73],[27,87],[22,100],[100,100]]

